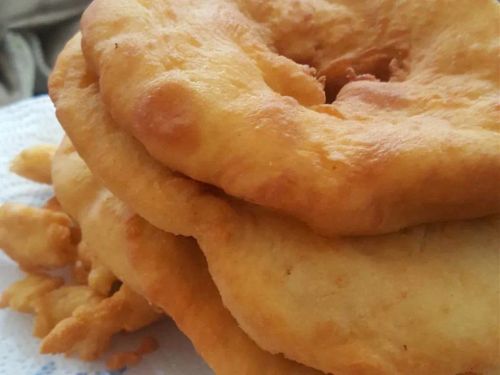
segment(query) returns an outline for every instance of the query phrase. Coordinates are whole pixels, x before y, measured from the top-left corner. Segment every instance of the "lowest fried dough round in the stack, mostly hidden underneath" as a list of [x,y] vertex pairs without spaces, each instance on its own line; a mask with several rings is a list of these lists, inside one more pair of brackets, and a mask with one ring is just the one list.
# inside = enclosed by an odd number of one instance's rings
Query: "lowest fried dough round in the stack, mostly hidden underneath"
[[66,139],[53,164],[54,189],[77,218],[94,255],[160,307],[217,374],[320,375],[260,349],[223,306],[192,239],[163,232],[100,185]]

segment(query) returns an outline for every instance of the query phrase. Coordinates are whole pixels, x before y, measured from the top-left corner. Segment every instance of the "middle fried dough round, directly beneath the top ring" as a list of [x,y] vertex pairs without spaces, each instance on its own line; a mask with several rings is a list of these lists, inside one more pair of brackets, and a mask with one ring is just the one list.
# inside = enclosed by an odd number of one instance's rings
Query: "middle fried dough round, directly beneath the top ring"
[[50,89],[79,154],[139,215],[198,240],[260,347],[335,374],[498,371],[498,218],[325,239],[162,167],[112,122],[95,79],[76,38]]

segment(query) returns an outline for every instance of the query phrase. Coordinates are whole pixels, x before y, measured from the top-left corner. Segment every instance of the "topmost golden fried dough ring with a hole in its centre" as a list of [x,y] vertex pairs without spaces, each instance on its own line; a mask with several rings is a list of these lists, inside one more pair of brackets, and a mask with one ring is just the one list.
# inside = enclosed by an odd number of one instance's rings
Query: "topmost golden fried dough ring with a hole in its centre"
[[95,0],[82,32],[155,159],[349,235],[500,212],[499,22],[494,0]]

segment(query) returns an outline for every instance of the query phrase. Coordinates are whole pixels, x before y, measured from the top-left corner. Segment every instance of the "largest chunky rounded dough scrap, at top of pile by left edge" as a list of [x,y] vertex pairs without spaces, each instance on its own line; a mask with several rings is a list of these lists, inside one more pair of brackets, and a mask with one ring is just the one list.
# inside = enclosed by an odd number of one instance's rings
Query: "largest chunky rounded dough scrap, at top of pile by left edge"
[[25,269],[72,263],[72,228],[63,212],[13,203],[0,206],[0,248]]

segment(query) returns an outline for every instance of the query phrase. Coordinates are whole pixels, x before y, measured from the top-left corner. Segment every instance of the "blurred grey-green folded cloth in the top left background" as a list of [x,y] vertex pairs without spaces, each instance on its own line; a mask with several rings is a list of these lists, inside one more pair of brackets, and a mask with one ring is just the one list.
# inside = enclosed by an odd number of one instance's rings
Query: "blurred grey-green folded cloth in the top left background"
[[0,107],[47,92],[57,54],[90,0],[0,0]]

